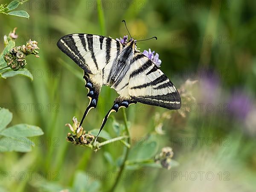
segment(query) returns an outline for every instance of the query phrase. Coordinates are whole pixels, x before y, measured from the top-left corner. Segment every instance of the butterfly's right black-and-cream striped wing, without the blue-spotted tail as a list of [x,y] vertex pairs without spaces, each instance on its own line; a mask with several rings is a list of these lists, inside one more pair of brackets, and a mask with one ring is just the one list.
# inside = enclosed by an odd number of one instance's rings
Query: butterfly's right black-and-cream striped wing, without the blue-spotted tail
[[136,52],[131,64],[129,95],[136,102],[180,109],[181,99],[176,87],[145,55]]

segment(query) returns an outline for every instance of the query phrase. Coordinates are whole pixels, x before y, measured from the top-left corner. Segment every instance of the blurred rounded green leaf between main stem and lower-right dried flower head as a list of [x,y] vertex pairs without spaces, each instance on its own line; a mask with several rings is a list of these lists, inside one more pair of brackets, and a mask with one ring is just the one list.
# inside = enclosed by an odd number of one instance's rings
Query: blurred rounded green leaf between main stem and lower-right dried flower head
[[151,135],[140,145],[136,145],[131,148],[128,160],[132,162],[149,160],[156,155],[157,150],[158,141],[153,135]]

